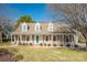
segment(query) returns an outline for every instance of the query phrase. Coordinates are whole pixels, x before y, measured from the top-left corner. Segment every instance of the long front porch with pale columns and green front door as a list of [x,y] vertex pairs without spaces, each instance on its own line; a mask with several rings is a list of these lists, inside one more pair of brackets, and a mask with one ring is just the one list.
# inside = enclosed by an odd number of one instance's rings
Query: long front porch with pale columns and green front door
[[77,43],[77,36],[74,34],[12,34],[11,44],[74,44]]

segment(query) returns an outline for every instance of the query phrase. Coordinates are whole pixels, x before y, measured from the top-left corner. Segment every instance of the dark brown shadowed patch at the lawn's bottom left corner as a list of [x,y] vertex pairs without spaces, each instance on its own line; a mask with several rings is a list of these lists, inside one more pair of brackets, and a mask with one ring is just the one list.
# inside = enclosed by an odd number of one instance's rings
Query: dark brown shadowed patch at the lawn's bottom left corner
[[0,48],[0,62],[18,62],[22,58],[23,56],[21,54],[14,54],[7,48]]

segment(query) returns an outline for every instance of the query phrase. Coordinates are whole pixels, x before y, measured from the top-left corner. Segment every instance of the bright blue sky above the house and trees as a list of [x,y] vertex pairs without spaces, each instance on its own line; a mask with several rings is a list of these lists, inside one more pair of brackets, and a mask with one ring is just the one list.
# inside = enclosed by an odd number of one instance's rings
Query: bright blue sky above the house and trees
[[34,21],[52,21],[45,3],[0,3],[0,14],[7,14],[14,21],[24,14]]

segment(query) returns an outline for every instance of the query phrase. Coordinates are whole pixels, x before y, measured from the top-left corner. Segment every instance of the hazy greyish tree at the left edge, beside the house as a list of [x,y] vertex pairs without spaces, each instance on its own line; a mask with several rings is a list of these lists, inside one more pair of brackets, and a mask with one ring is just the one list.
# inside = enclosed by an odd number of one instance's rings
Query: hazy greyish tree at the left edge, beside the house
[[0,15],[0,40],[2,42],[3,37],[10,35],[13,25],[11,24],[11,20],[7,15]]

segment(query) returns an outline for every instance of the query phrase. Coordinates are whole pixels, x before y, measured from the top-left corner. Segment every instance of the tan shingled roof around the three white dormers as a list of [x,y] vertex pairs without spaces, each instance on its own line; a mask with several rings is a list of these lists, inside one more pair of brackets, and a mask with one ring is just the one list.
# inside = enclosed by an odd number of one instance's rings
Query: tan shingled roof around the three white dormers
[[40,32],[35,31],[35,23],[26,23],[30,29],[28,32],[21,31],[21,24],[19,24],[18,29],[12,32],[12,34],[56,34],[56,33],[75,33],[72,29],[69,29],[69,25],[67,24],[59,24],[59,23],[53,23],[53,32],[48,32],[48,23],[43,22],[40,23],[42,26],[42,30]]

